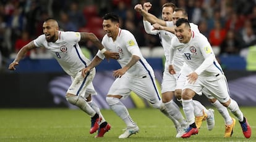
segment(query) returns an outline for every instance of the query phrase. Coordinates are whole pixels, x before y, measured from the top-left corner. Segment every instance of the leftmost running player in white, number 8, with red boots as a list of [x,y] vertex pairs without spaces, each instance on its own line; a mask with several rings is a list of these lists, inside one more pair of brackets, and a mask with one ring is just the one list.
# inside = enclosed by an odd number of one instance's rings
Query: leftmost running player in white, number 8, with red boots
[[19,61],[29,50],[36,47],[48,49],[72,79],[72,84],[66,94],[67,101],[78,106],[92,118],[90,133],[95,133],[98,130],[98,135],[95,137],[103,137],[111,125],[106,122],[100,108],[91,97],[91,94],[96,93],[92,84],[95,69],[93,68],[85,78],[81,76],[81,69],[87,66],[90,60],[82,54],[78,42],[87,40],[92,41],[106,57],[115,59],[119,57],[117,52],[106,51],[95,34],[59,31],[58,22],[53,18],[48,18],[43,23],[43,34],[20,49],[14,61],[9,65],[9,69],[15,70],[15,65],[19,65]]

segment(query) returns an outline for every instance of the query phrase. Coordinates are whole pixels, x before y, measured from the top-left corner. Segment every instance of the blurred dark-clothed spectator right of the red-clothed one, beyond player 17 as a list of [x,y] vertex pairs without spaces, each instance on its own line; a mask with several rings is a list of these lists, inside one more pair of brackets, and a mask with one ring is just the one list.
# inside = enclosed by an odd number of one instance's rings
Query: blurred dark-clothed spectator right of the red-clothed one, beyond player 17
[[241,41],[237,38],[233,30],[229,30],[220,47],[221,54],[239,55],[241,50]]

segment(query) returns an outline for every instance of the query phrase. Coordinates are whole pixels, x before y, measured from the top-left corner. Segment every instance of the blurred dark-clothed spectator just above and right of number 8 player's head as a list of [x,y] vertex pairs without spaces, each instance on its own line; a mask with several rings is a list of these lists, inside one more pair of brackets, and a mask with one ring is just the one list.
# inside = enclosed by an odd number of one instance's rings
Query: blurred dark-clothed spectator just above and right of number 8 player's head
[[82,11],[80,11],[79,9],[77,2],[72,2],[70,4],[70,8],[67,12],[67,15],[69,15],[69,20],[72,21],[72,23],[74,23],[75,26],[77,26],[77,28],[85,26],[86,20],[82,14]]

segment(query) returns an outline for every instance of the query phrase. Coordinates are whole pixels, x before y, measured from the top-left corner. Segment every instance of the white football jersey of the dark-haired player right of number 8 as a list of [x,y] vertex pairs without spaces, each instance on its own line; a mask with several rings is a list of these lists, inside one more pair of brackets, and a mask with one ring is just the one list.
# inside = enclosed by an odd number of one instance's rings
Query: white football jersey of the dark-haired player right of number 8
[[[122,30],[119,28],[119,33],[116,37],[116,41],[113,41],[111,37],[105,35],[102,39],[102,44],[107,50],[119,53],[119,59],[117,61],[122,67],[126,66],[127,63],[129,63],[132,55],[140,57],[140,60],[127,70],[126,73],[130,74],[130,76],[139,77],[150,73],[151,76],[155,77],[153,69],[145,60],[145,58],[143,58],[137,41],[135,40],[134,35],[130,33],[130,31]],[[98,51],[96,55],[101,59],[105,58],[105,56],[100,53],[100,51]]]

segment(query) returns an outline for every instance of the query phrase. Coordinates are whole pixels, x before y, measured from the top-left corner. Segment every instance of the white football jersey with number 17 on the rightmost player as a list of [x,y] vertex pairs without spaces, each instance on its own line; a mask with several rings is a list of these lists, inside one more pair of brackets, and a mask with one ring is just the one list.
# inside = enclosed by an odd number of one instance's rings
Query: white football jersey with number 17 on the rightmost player
[[[203,34],[192,31],[192,37],[186,44],[179,42],[177,37],[174,37],[171,43],[176,53],[182,55],[184,61],[193,71],[198,71],[205,77],[223,74],[211,45]],[[212,60],[205,61],[208,57]]]

